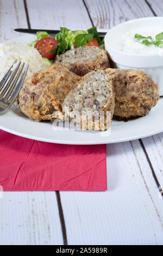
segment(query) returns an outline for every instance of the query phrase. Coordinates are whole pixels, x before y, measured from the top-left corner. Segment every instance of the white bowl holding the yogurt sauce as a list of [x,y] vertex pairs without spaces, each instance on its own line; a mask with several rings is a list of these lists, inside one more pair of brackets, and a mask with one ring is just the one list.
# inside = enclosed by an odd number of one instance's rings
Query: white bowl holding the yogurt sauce
[[105,49],[109,53],[116,68],[143,70],[158,83],[159,94],[163,95],[163,57],[154,54],[130,54],[116,50],[117,42],[120,41],[122,33],[129,31],[129,29],[146,26],[162,26],[163,31],[163,17],[147,17],[131,20],[111,28],[105,35]]

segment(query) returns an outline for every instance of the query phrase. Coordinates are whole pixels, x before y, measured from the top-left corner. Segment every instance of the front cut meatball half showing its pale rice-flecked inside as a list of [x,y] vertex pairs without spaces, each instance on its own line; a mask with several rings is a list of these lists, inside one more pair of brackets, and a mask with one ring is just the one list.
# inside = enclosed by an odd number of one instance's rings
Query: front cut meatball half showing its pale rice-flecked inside
[[67,95],[62,109],[65,119],[76,120],[77,126],[84,130],[106,130],[111,125],[114,105],[112,83],[105,71],[95,70],[86,74]]

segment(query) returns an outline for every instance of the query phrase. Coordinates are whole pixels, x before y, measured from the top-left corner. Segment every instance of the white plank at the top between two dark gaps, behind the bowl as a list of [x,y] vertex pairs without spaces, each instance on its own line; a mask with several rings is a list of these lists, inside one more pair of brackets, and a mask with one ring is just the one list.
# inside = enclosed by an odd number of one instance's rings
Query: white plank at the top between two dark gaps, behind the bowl
[[144,0],[84,0],[93,24],[112,28],[119,23],[140,17],[154,16]]

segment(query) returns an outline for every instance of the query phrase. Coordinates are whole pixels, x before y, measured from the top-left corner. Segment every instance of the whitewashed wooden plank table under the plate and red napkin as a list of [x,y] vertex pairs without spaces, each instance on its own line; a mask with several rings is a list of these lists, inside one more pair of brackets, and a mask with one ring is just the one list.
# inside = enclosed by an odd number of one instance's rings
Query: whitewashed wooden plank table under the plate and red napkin
[[[162,15],[163,0],[1,0],[0,41]],[[0,245],[163,245],[163,133],[107,145],[107,168],[106,192],[5,192]]]

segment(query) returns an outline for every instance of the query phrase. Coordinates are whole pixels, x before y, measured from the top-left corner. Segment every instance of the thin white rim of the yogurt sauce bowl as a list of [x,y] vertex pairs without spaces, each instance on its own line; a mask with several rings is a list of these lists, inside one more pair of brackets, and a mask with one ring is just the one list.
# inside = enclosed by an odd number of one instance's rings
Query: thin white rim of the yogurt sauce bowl
[[133,54],[133,53],[127,53],[127,52],[122,52],[122,51],[119,51],[117,50],[116,48],[112,47],[109,45],[108,43],[108,36],[109,36],[109,33],[110,31],[112,31],[113,29],[117,28],[117,27],[122,27],[124,26],[125,24],[130,24],[130,23],[134,23],[134,22],[137,22],[137,21],[144,21],[144,20],[148,20],[148,19],[154,19],[154,20],[159,20],[161,19],[163,21],[163,17],[161,16],[157,16],[157,17],[143,17],[143,18],[139,18],[139,19],[134,19],[134,20],[130,20],[130,21],[126,21],[126,22],[122,22],[121,24],[118,24],[117,26],[111,28],[105,35],[105,39],[104,39],[104,42],[105,44],[112,50],[112,51],[115,51],[119,54],[122,54],[122,56],[132,56],[132,57],[143,57],[143,58],[148,58],[149,56],[150,57],[159,57],[157,54]]

